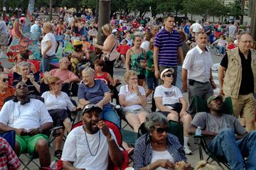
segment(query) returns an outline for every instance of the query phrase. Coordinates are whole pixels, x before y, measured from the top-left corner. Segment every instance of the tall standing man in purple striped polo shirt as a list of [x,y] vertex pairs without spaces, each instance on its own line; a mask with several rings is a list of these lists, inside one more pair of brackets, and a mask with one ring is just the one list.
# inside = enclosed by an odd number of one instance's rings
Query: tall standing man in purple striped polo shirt
[[178,30],[174,30],[174,16],[169,14],[164,17],[164,29],[156,34],[154,40],[154,65],[155,76],[160,78],[162,69],[174,68],[174,82],[176,84],[177,77],[177,52],[181,56],[181,63],[183,63],[183,52],[181,49],[182,40]]

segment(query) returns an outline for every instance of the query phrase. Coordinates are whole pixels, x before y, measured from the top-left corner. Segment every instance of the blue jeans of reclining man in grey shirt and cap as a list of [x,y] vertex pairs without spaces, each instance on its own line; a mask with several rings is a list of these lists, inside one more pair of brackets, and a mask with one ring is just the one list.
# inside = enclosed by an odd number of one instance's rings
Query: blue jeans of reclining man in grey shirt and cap
[[256,169],[256,130],[248,133],[241,140],[235,141],[234,130],[222,130],[208,145],[211,152],[223,155],[230,164],[230,169],[243,169],[242,157],[247,157],[247,170]]

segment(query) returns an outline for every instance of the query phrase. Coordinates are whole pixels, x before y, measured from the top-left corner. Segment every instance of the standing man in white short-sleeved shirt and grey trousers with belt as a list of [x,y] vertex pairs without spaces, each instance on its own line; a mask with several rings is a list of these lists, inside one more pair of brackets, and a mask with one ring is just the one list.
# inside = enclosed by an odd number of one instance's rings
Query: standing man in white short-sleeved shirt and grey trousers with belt
[[190,103],[188,113],[192,116],[196,114],[194,97],[199,96],[207,101],[210,96],[213,96],[213,89],[216,88],[211,71],[213,60],[210,51],[206,48],[206,33],[199,32],[196,35],[196,42],[196,47],[189,50],[186,55],[181,74],[182,89],[183,91],[188,91],[188,101]]

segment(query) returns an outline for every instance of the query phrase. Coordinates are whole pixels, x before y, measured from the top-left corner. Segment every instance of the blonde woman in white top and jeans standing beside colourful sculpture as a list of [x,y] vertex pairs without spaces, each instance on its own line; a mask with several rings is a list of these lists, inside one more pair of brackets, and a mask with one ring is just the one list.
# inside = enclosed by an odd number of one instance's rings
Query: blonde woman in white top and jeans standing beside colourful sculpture
[[41,42],[41,54],[42,54],[42,62],[40,64],[41,72],[48,72],[51,60],[55,57],[55,50],[58,47],[57,41],[55,40],[55,36],[52,33],[53,28],[51,23],[43,23],[42,34],[43,40]]

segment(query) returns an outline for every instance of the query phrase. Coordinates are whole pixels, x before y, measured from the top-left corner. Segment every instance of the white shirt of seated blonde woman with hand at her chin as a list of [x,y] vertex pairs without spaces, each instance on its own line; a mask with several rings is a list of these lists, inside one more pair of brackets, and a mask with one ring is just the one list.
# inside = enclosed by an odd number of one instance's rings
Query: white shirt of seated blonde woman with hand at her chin
[[[145,96],[146,92],[144,88],[142,86],[138,86],[138,87],[139,87],[139,93],[142,94],[142,96]],[[139,100],[139,96],[135,91],[132,91],[132,93],[129,91],[128,85],[121,86],[118,96],[120,94],[125,96],[125,101],[136,102]],[[137,110],[141,108],[142,108],[141,105],[132,105],[132,106],[124,107],[124,110]]]

